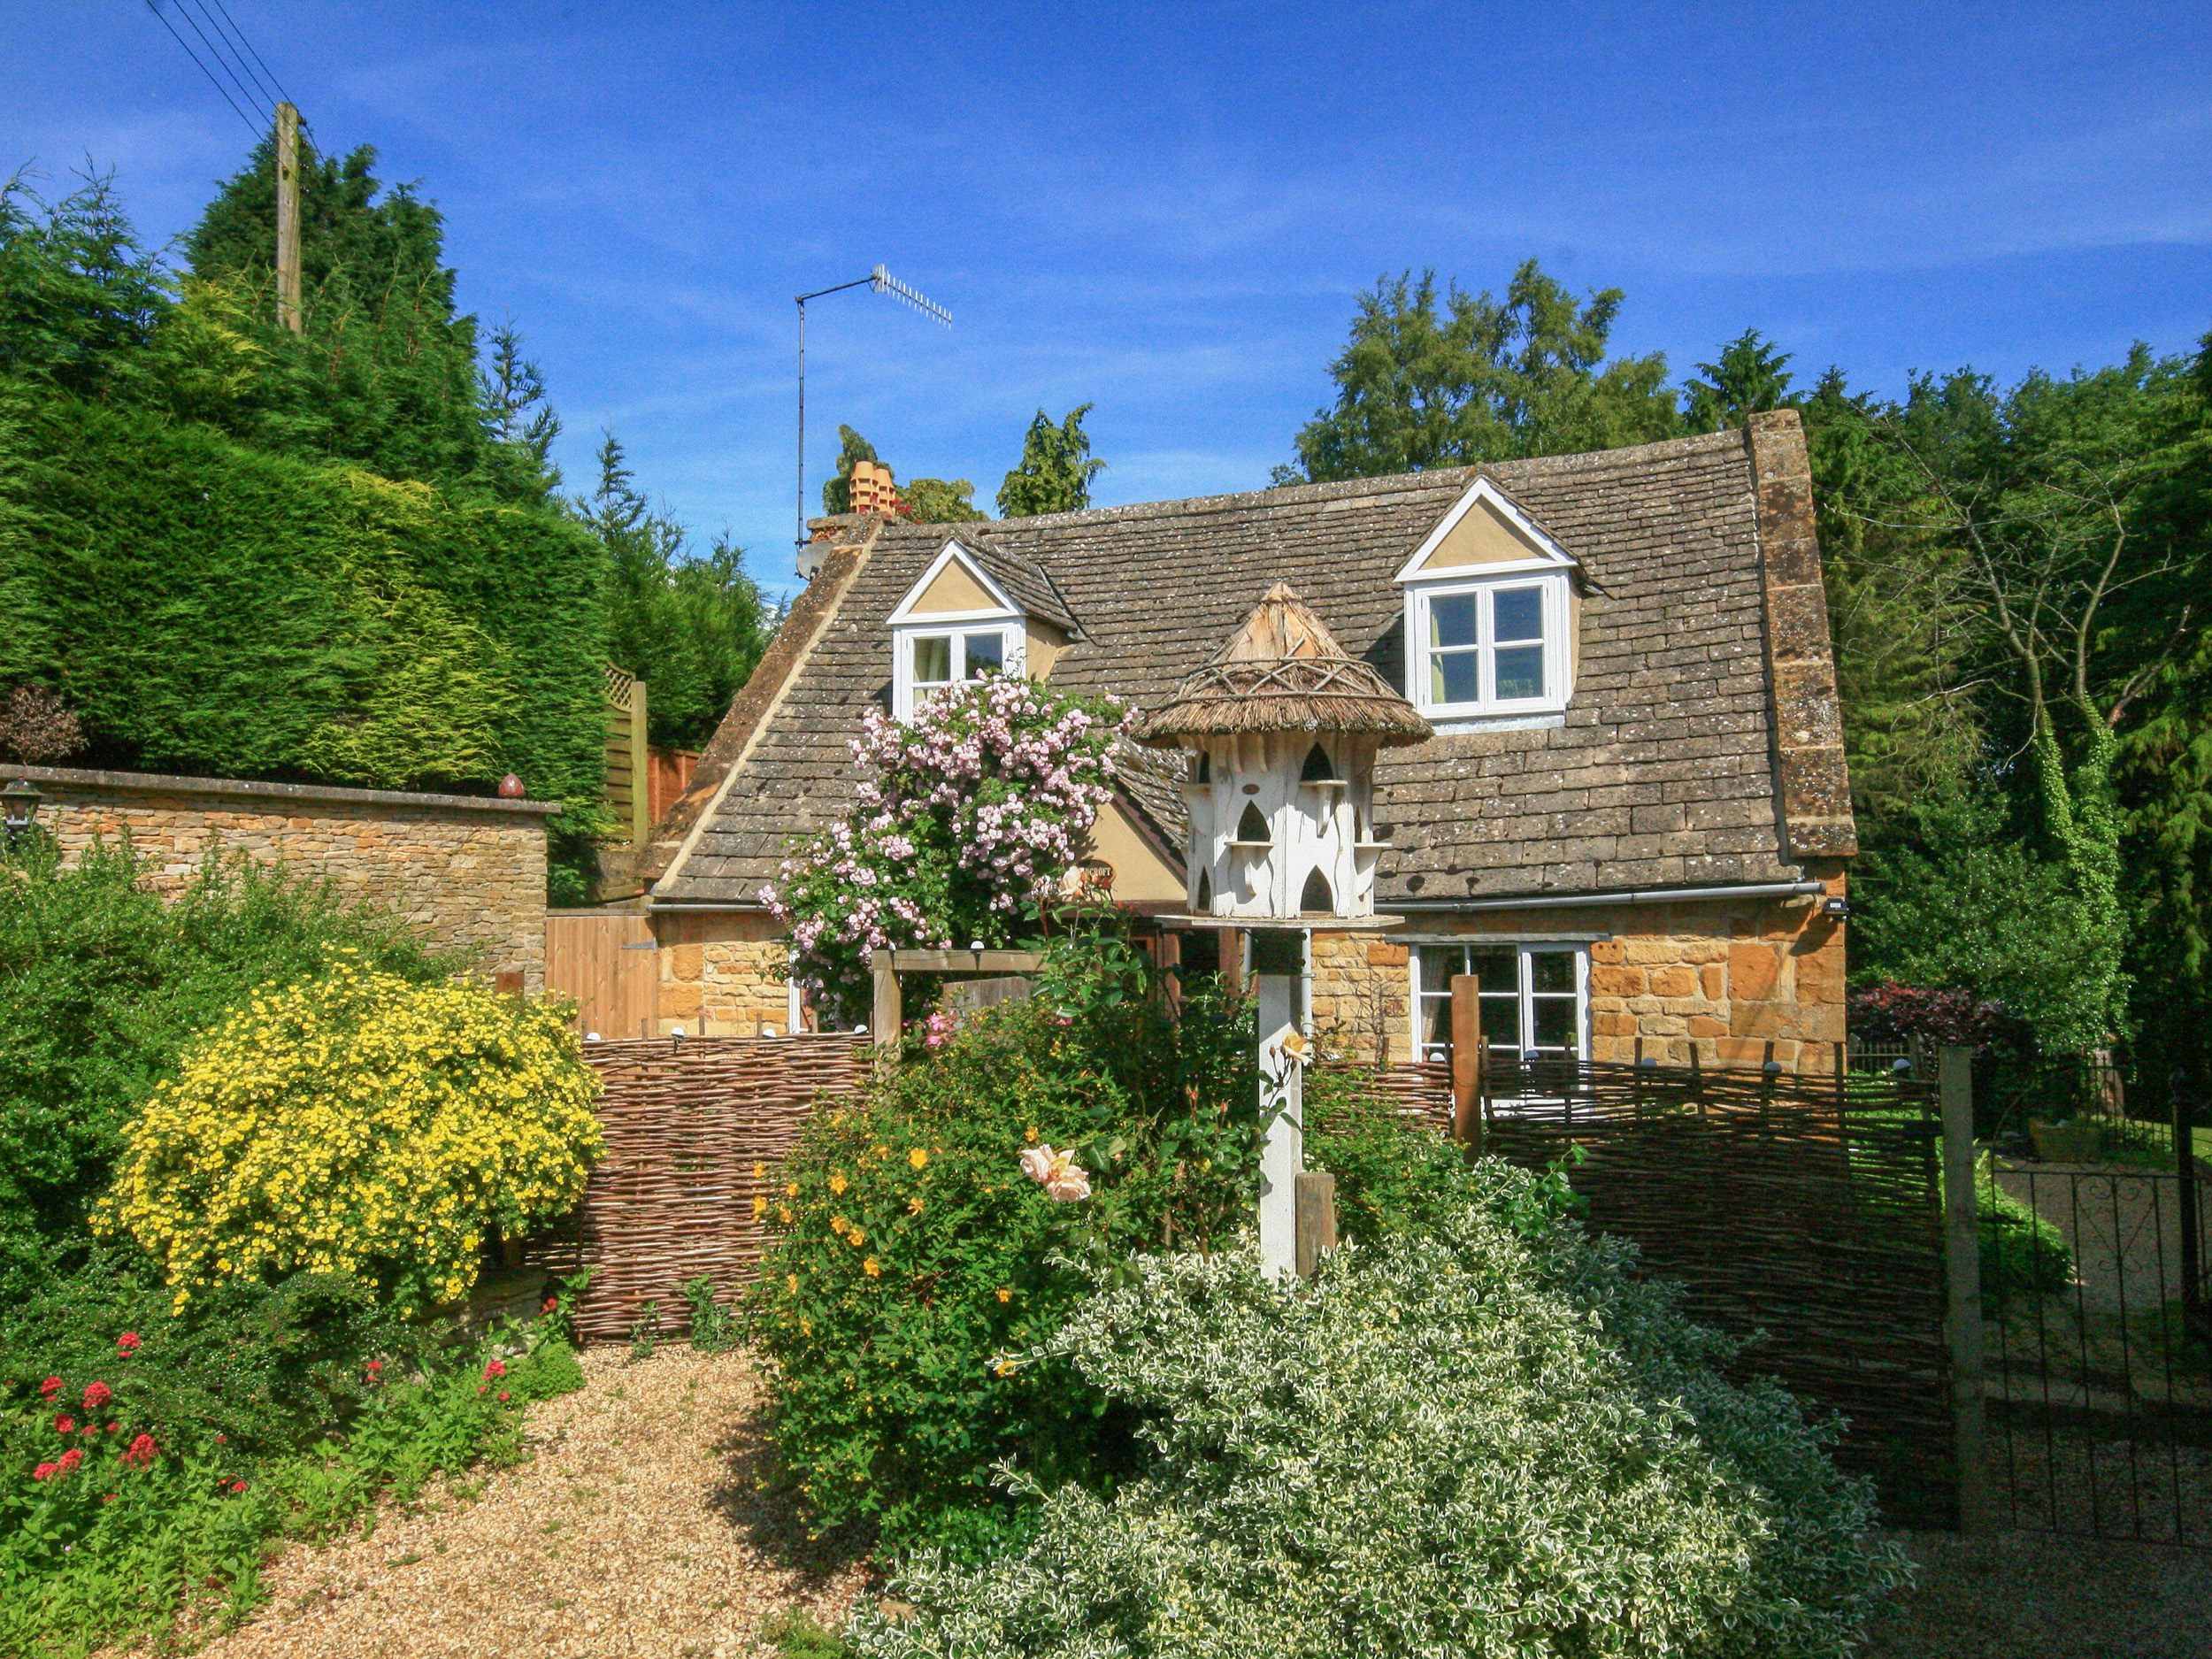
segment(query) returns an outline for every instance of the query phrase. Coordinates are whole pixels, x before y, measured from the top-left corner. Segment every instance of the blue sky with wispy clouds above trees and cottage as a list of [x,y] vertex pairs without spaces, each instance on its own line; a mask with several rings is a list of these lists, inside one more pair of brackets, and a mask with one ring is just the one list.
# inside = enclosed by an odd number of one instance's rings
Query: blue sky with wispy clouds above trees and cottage
[[[989,502],[1095,403],[1102,504],[1259,487],[1354,294],[1535,254],[1677,376],[1743,327],[1856,385],[2212,330],[2212,7],[761,7],[226,0],[325,148],[447,215],[591,471],[613,425],[781,588],[865,431]],[[0,166],[113,168],[153,241],[250,135],[139,0],[0,0]],[[197,42],[195,42],[197,44]]]

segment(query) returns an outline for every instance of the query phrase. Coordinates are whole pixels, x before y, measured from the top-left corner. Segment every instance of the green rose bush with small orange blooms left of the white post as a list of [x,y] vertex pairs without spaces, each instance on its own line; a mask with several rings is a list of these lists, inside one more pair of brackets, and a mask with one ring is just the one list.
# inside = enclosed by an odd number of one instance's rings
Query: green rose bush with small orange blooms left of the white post
[[[984,1551],[1026,1526],[989,1486],[1000,1458],[1115,1478],[1126,1422],[1064,1367],[1006,1356],[1088,1292],[1077,1259],[1232,1237],[1256,1194],[1252,1055],[1248,1006],[1197,998],[1170,1024],[1139,953],[1077,945],[1031,1002],[909,1044],[894,1077],[807,1121],[763,1206],[748,1316],[816,1526]],[[1088,1199],[1024,1175],[1040,1146],[1073,1155]]]

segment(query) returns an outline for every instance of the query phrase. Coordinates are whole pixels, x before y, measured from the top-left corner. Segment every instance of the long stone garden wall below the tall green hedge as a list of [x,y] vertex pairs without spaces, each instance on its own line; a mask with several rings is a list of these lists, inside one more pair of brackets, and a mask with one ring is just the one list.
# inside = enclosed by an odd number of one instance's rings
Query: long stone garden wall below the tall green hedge
[[531,995],[544,989],[546,818],[557,803],[0,765],[0,783],[11,779],[46,794],[38,823],[64,865],[128,836],[153,887],[177,894],[210,856],[246,854],[327,878],[434,945],[473,951],[487,978],[520,973]]

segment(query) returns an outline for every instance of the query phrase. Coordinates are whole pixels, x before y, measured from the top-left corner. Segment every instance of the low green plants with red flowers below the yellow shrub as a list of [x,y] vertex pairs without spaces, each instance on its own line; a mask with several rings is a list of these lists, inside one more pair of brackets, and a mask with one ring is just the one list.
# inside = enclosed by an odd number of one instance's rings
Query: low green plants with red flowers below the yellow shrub
[[166,1646],[184,1615],[221,1628],[263,1599],[272,1540],[321,1542],[378,1495],[520,1462],[524,1407],[584,1380],[560,1314],[440,1352],[356,1287],[241,1287],[173,1318],[131,1272],[102,1263],[0,1323],[11,1655]]

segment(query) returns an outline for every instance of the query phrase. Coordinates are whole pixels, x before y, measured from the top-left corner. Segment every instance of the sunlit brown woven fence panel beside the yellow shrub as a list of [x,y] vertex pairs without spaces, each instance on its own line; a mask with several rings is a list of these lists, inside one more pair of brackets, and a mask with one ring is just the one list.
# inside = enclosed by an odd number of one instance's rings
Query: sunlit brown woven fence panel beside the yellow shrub
[[[867,1037],[692,1037],[593,1042],[606,1157],[582,1208],[531,1241],[526,1261],[555,1274],[591,1267],[577,1334],[628,1336],[639,1310],[688,1325],[681,1290],[706,1274],[728,1298],[759,1274],[765,1234],[754,1197],[772,1197],[776,1164],[814,1102],[867,1077]],[[754,1168],[765,1175],[754,1177]]]

